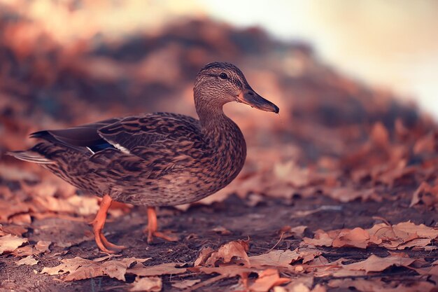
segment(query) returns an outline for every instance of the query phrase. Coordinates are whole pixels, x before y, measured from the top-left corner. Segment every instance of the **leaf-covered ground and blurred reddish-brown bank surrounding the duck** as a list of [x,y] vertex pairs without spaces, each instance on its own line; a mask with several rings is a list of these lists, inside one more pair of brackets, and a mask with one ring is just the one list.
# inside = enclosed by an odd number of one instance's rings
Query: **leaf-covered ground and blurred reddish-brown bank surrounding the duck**
[[[1,291],[434,291],[438,128],[414,107],[260,29],[195,20],[96,48],[61,46],[34,24],[45,40],[34,51],[10,39],[27,22],[0,19]],[[160,209],[178,242],[147,244],[146,209],[114,204],[104,231],[128,248],[102,254],[87,224],[99,199],[3,155],[31,145],[29,132],[139,107],[193,115],[192,80],[211,58],[248,72],[281,118],[227,108],[246,166],[202,203]]]

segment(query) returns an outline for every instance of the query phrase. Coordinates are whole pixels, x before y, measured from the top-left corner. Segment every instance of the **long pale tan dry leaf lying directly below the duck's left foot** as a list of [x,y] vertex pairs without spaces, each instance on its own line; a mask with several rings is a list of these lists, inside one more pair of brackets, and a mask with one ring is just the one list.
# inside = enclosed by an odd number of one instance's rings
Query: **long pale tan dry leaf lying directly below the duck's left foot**
[[64,281],[76,281],[81,279],[90,279],[108,275],[121,281],[125,281],[127,268],[135,262],[144,262],[145,258],[122,258],[121,260],[108,260],[106,262],[98,262],[87,260],[85,258],[64,258],[62,264],[56,267],[44,267],[41,274],[67,274]]

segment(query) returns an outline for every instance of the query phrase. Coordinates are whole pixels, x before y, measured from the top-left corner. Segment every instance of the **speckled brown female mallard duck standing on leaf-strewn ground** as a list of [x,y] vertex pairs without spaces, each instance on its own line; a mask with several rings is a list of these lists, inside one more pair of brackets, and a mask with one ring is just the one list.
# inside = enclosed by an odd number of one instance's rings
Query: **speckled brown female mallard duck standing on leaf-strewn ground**
[[199,120],[177,113],[148,113],[45,130],[31,134],[41,143],[10,155],[38,163],[73,186],[103,197],[92,221],[102,251],[124,248],[108,242],[102,233],[113,200],[148,206],[148,242],[153,235],[171,239],[157,232],[155,207],[211,195],[227,186],[245,162],[243,134],[222,106],[243,102],[263,111],[279,111],[229,63],[207,64],[197,74],[194,92]]

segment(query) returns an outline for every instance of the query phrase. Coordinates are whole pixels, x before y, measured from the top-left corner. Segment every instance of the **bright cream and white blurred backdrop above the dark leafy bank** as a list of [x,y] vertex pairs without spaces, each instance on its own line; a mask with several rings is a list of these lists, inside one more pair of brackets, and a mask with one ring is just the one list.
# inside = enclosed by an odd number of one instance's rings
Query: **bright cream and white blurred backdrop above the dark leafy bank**
[[[16,42],[29,42],[45,32],[62,46],[80,41],[97,46],[102,39],[120,42],[138,34],[157,35],[169,23],[188,19],[263,27],[285,42],[311,44],[324,62],[374,86],[390,88],[405,99],[416,99],[423,109],[438,115],[438,4],[433,0],[276,0],[269,4],[2,0],[0,7],[3,18],[11,21],[19,16],[29,21],[29,27],[15,36]],[[209,34],[214,38],[214,32]],[[134,52],[125,52],[129,53]]]

